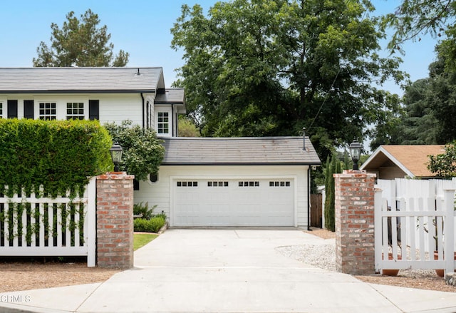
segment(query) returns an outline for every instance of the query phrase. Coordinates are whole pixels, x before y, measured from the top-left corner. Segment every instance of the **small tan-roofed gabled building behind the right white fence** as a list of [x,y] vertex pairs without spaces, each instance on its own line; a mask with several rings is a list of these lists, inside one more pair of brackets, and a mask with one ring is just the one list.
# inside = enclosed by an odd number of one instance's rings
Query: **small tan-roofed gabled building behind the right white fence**
[[429,155],[444,153],[445,145],[380,145],[361,165],[361,170],[377,174],[378,179],[434,178],[427,169]]

